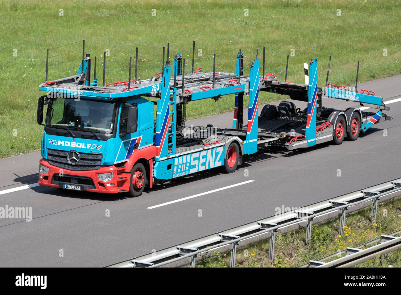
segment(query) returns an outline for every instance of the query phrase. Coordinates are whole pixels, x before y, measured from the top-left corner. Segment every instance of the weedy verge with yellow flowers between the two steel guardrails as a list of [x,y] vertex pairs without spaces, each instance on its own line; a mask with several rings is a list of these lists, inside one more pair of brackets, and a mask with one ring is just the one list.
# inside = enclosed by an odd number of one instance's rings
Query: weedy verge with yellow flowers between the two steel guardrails
[[[309,260],[318,260],[338,250],[355,247],[365,242],[401,229],[401,197],[379,203],[375,223],[371,222],[371,206],[346,214],[344,233],[339,236],[338,217],[312,226],[310,245],[305,244],[305,228],[282,234],[275,239],[275,260],[269,261],[269,239],[259,240],[237,250],[237,267],[296,267]],[[387,211],[385,211],[387,210]],[[396,235],[399,236],[399,235]],[[374,246],[371,244],[367,247]],[[344,254],[342,255],[344,256]],[[196,267],[228,267],[230,252],[208,251],[200,255]],[[330,258],[325,262],[337,259]],[[401,250],[356,265],[355,267],[401,267]]]

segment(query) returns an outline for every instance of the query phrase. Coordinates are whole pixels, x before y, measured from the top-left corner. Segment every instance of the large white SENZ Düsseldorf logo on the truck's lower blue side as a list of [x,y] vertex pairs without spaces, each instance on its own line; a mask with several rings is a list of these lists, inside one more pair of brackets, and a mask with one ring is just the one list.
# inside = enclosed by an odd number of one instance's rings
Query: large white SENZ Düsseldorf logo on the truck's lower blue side
[[173,177],[200,172],[224,163],[223,146],[174,159]]

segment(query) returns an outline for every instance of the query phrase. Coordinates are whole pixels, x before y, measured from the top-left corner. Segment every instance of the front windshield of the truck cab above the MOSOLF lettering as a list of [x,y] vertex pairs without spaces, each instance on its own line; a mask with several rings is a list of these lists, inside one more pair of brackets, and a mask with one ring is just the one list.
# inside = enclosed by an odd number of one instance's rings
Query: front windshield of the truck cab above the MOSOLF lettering
[[47,107],[45,126],[111,134],[115,112],[115,102],[54,98]]

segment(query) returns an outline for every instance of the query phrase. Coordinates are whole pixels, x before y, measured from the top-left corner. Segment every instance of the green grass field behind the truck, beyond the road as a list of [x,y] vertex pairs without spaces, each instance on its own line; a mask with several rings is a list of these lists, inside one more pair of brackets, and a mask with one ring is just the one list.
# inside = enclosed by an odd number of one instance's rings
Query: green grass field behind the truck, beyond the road
[[[150,47],[161,44],[196,40],[196,53],[203,50],[205,59],[197,59],[203,69],[211,70],[213,53],[244,49],[245,66],[255,56],[255,48],[266,46],[269,61],[266,73],[275,73],[284,80],[286,55],[290,56],[288,81],[303,81],[303,63],[318,58],[318,85],[326,77],[328,56],[348,64],[360,61],[359,81],[399,74],[400,1],[95,1],[67,0],[48,2],[40,0],[0,0],[3,28],[0,37],[0,157],[8,157],[39,149],[43,126],[36,124],[38,85],[45,81],[46,49],[85,39],[85,51],[97,55],[97,76],[101,81],[103,51],[111,52]],[[59,10],[63,9],[63,16]],[[156,16],[152,16],[156,9]],[[249,16],[244,16],[244,10]],[[336,16],[341,9],[341,16]],[[17,56],[13,56],[13,50]],[[79,44],[55,49],[52,53],[77,50],[55,57],[53,63],[79,57]],[[245,50],[252,49],[252,50]],[[383,49],[388,56],[383,57]],[[139,49],[138,73],[142,79],[161,71],[161,49]],[[150,52],[152,51],[152,52]],[[192,44],[171,45],[170,59],[176,51],[187,58],[190,67]],[[148,52],[147,54],[145,54]],[[159,54],[154,55],[154,54]],[[261,57],[259,50],[259,57]],[[107,60],[135,56],[135,51],[111,53]],[[188,56],[189,55],[189,56]],[[284,56],[282,56],[284,55]],[[64,59],[65,57],[65,59]],[[158,59],[157,59],[158,58]],[[142,59],[146,59],[142,61]],[[218,55],[217,70],[235,67],[235,53]],[[50,62],[49,62],[50,63]],[[76,66],[79,59],[49,67],[67,69]],[[209,65],[208,65],[209,64]],[[149,65],[149,66],[147,66]],[[205,66],[206,65],[206,66]],[[220,67],[221,66],[221,67]],[[338,84],[354,83],[356,65],[341,65],[332,60],[330,81]],[[106,83],[128,78],[128,61],[107,63]],[[121,69],[120,69],[121,68]],[[245,73],[247,72],[245,69]],[[74,74],[73,70],[53,74],[49,80]],[[114,79],[115,78],[115,79]],[[120,80],[120,78],[122,78]],[[377,94],[380,95],[380,94]],[[261,94],[260,103],[282,99],[281,96]],[[217,102],[204,100],[189,105],[188,118],[199,118],[233,110],[233,97]],[[15,132],[16,131],[16,132]],[[17,135],[17,136],[14,136]]]

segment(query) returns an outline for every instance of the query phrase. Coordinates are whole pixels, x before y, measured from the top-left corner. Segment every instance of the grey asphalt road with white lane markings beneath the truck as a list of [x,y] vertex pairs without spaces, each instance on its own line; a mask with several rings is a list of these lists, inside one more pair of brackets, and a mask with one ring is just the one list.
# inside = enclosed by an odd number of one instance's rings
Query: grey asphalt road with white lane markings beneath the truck
[[[394,100],[401,97],[400,81],[398,75],[358,88]],[[354,105],[324,102],[335,108]],[[212,171],[178,179],[137,198],[41,186],[9,191],[36,183],[41,156],[31,153],[0,160],[0,207],[32,208],[30,222],[0,218],[0,267],[103,267],[271,216],[283,205],[308,205],[399,178],[401,102],[389,106],[385,113],[394,119],[374,125],[354,142],[293,152],[261,151],[244,159],[232,174]],[[227,113],[188,124],[227,127],[232,117]],[[253,181],[148,209],[249,180]]]

